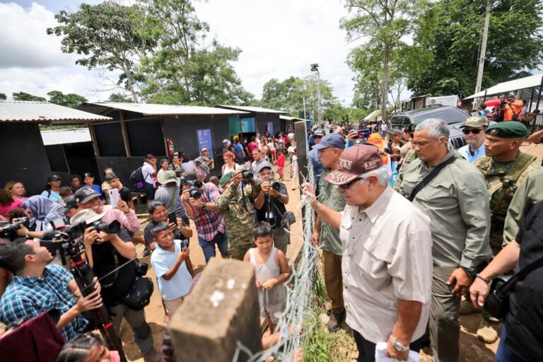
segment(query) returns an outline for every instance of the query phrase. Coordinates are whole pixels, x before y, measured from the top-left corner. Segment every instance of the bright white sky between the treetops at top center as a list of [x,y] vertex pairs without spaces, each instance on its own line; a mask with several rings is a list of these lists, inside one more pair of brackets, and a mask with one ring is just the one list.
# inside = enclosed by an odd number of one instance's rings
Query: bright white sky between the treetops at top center
[[243,50],[235,69],[257,98],[270,78],[308,76],[309,64],[317,62],[341,103],[351,102],[350,46],[339,29],[346,15],[342,1],[209,0],[195,6],[221,42]]

